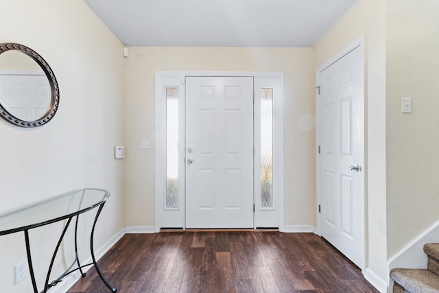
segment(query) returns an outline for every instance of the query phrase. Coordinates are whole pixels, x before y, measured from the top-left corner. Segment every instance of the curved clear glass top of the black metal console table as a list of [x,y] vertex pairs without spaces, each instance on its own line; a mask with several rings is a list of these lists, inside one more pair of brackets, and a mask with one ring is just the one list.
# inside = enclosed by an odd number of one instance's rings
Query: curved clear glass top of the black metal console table
[[79,215],[106,202],[105,189],[84,188],[0,215],[0,235],[25,231]]

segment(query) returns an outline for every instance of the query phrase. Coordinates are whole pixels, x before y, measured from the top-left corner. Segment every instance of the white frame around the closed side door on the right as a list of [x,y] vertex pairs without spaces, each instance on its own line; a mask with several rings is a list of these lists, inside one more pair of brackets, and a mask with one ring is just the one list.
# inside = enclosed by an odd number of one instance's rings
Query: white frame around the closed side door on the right
[[[363,110],[361,112],[361,117],[359,117],[359,121],[361,121],[362,124],[362,128],[360,129],[360,133],[359,133],[359,137],[361,139],[361,151],[363,152],[363,156],[361,158],[361,162],[359,162],[359,164],[361,165],[361,178],[363,180],[363,192],[361,194],[362,196],[362,202],[363,202],[363,207],[364,207],[364,227],[363,227],[363,239],[364,239],[364,244],[363,244],[363,251],[362,251],[362,258],[363,258],[363,263],[364,266],[363,268],[361,268],[362,271],[364,271],[364,269],[366,268],[366,250],[367,250],[367,234],[366,233],[366,227],[368,226],[367,223],[367,217],[366,217],[366,209],[367,209],[367,204],[366,204],[366,172],[367,172],[367,165],[366,165],[366,148],[365,148],[365,129],[366,129],[366,121],[364,119],[365,117],[365,113],[366,113],[366,103],[365,103],[365,97],[366,97],[366,67],[365,67],[365,55],[366,55],[366,49],[365,49],[365,36],[361,36],[359,38],[357,38],[357,40],[355,40],[353,43],[351,43],[351,45],[348,45],[347,47],[345,47],[344,49],[342,49],[342,51],[339,51],[337,54],[335,54],[335,56],[333,56],[332,58],[330,58],[329,60],[327,60],[327,62],[324,62],[320,67],[318,67],[318,69],[316,70],[316,101],[318,101],[319,99],[319,93],[318,91],[320,91],[320,73],[322,71],[324,71],[324,69],[327,69],[328,67],[330,67],[331,65],[333,65],[335,62],[337,62],[338,60],[340,60],[341,58],[343,58],[344,56],[346,56],[347,54],[349,54],[351,51],[353,51],[354,49],[359,48],[361,50],[361,66],[362,66],[362,73],[363,73],[363,95],[362,95],[362,101],[361,104],[363,104]],[[322,117],[321,117],[322,113],[320,113],[320,107],[319,107],[319,103],[316,102],[316,146],[317,146],[317,150],[316,150],[316,214],[317,214],[317,225],[316,225],[316,234],[319,236],[322,236],[321,233],[321,218],[320,218],[320,212],[319,212],[319,207],[321,204],[321,188],[320,188],[320,156],[319,156],[319,152],[318,152],[318,146],[320,145],[320,123]]]

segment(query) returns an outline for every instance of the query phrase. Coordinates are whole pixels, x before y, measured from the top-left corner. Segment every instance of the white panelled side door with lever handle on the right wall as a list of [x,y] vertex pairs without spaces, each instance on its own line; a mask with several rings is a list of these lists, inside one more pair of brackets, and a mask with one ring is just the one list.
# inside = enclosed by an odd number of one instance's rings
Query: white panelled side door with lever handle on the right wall
[[364,267],[364,63],[359,46],[318,72],[320,231]]

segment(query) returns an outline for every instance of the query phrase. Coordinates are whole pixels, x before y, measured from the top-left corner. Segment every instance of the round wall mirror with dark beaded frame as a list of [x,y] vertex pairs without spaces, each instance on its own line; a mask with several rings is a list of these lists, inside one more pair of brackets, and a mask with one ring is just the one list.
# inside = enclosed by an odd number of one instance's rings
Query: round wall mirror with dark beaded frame
[[0,44],[0,116],[21,127],[49,122],[58,110],[60,93],[54,72],[29,47]]

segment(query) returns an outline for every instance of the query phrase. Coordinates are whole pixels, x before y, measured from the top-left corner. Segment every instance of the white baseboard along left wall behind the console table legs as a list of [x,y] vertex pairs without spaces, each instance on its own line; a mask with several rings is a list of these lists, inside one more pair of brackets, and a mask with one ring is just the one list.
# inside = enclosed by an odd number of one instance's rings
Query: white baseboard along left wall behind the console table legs
[[[121,228],[121,230],[119,232],[117,232],[116,235],[111,237],[111,239],[108,240],[108,242],[106,242],[106,244],[104,244],[101,248],[96,250],[95,251],[96,261],[98,261],[103,255],[105,255],[105,253],[108,250],[110,250],[110,248],[112,248],[112,246],[115,245],[116,242],[118,242],[121,239],[121,237],[123,235],[125,235],[125,233],[126,233],[125,228]],[[90,257],[89,259],[87,259],[86,261],[83,261],[82,263],[91,263],[91,262],[92,262],[92,259]],[[90,268],[91,268],[91,266],[87,266],[86,268],[83,269],[83,271],[86,272]],[[58,283],[58,285],[56,285],[56,287],[51,288],[50,292],[51,293],[67,292],[67,290],[69,290],[69,288],[71,288],[71,286],[73,286],[80,278],[81,278],[81,274],[79,271],[73,272],[72,274],[69,274],[69,276],[62,279],[62,281],[60,283]]]

